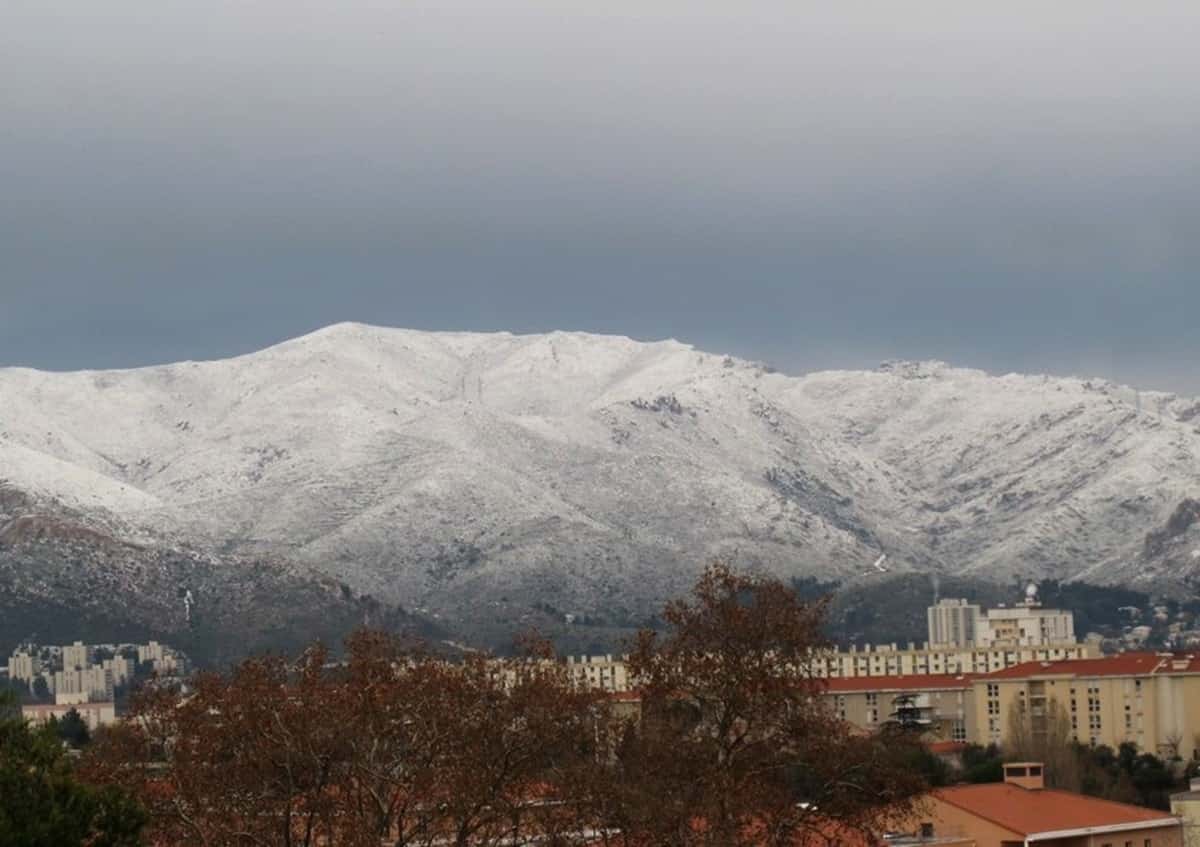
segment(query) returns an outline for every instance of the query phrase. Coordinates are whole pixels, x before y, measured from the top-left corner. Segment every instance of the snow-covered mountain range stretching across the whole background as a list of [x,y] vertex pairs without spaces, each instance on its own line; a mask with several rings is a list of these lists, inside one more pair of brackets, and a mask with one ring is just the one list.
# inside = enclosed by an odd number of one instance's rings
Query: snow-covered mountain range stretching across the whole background
[[223,361],[0,370],[0,551],[6,521],[70,513],[467,631],[534,605],[638,620],[715,557],[1184,583],[1194,521],[1147,534],[1198,495],[1200,402],[938,362],[797,378],[673,341],[340,324]]

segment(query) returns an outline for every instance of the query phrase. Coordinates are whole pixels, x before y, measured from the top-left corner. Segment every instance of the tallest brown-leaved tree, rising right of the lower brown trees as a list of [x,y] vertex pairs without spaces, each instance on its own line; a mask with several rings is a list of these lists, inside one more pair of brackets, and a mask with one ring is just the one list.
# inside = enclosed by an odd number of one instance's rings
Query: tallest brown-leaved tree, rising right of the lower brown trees
[[791,845],[911,810],[925,788],[902,765],[916,739],[857,734],[822,697],[823,603],[713,565],[664,619],[670,632],[640,633],[629,657],[643,715],[614,770],[614,805],[643,843]]

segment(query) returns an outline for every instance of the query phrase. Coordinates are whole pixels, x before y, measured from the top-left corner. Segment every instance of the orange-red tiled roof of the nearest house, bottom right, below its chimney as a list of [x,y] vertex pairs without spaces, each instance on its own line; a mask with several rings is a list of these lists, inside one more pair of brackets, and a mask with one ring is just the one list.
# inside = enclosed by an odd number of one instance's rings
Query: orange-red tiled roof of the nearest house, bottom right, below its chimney
[[1176,823],[1168,812],[1084,797],[1069,791],[1031,791],[1007,782],[940,788],[934,797],[1022,836],[1121,824]]

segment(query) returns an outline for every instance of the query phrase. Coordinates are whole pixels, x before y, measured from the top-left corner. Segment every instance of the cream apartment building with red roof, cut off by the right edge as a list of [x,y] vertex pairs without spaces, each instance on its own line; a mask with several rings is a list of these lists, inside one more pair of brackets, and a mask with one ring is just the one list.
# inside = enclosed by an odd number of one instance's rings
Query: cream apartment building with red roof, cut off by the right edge
[[1057,703],[1082,743],[1132,741],[1160,756],[1200,757],[1200,660],[1193,654],[1123,653],[1025,662],[976,678],[980,744],[1004,744],[1013,709],[1045,732]]

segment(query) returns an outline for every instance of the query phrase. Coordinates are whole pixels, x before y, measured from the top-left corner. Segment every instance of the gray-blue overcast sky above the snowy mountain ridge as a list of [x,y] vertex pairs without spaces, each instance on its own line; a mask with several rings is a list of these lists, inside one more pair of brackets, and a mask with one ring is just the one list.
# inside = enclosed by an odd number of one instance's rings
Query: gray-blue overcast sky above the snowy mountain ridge
[[1200,4],[4,0],[0,365],[336,320],[1200,394]]

